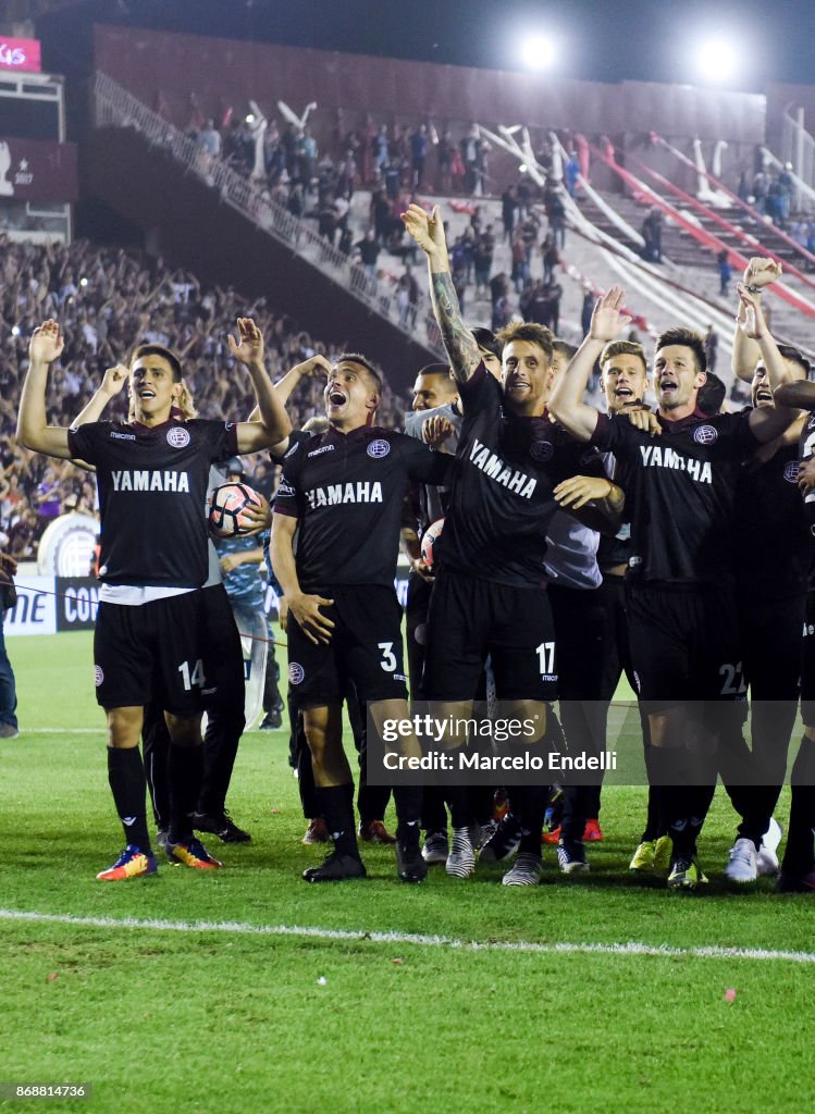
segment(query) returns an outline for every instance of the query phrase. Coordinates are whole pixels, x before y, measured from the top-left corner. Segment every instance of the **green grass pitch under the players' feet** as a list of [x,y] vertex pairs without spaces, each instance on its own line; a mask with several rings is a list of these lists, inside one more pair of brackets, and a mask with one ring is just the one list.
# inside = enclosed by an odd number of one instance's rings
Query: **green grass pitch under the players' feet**
[[590,876],[559,874],[547,852],[534,890],[502,888],[501,866],[404,887],[375,848],[367,881],[308,887],[319,856],[300,843],[285,736],[250,733],[230,803],[252,843],[223,848],[215,874],[166,866],[103,885],[122,834],[90,636],[9,639],[9,653],[23,730],[0,742],[0,1083],[91,1084],[79,1110],[124,1114],[815,1103],[812,899],[727,892],[724,794],[704,896],[629,879],[644,791],[617,786]]

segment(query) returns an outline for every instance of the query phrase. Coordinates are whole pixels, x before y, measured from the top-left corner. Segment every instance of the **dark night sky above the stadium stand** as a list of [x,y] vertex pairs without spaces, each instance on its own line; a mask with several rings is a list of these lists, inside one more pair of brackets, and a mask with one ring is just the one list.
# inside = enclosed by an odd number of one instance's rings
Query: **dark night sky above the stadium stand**
[[726,87],[815,85],[815,0],[95,0],[70,18],[88,11],[101,22],[499,69],[522,69],[518,42],[549,29],[562,42],[559,76],[689,85],[699,84],[695,43],[716,33],[744,51]]

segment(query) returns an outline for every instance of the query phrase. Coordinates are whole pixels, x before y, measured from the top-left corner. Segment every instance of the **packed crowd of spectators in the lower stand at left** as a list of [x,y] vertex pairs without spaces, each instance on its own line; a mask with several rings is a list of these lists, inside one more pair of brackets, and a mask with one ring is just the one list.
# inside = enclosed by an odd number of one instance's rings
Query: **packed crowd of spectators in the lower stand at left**
[[[29,452],[14,430],[20,388],[33,329],[46,317],[59,321],[65,351],[51,372],[48,420],[69,426],[101,382],[106,368],[126,362],[143,342],[167,344],[181,356],[195,407],[205,418],[245,419],[253,405],[249,378],[229,350],[226,335],[237,316],[252,316],[265,339],[272,377],[314,352],[332,349],[275,314],[263,297],[249,302],[231,286],[203,290],[186,271],[161,258],[87,241],[70,246],[9,243],[0,236],[0,532],[3,550],[17,560],[36,558],[42,531],[68,510],[94,512],[93,477],[70,465]],[[106,417],[125,417],[127,400],[116,399]],[[385,390],[379,420],[398,426],[406,403]],[[290,402],[295,428],[322,411],[322,384],[309,380]],[[270,466],[255,458],[253,482],[266,495]],[[0,539],[1,540],[1,539]]]

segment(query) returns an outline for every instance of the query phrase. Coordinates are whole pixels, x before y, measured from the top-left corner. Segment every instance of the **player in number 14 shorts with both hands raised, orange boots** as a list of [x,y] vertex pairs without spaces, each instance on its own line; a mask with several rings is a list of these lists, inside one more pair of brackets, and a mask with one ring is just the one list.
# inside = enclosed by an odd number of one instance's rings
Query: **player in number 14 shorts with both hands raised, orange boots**
[[167,854],[197,869],[220,866],[194,837],[201,769],[205,634],[200,590],[207,575],[202,514],[210,466],[236,452],[256,452],[291,429],[263,368],[263,338],[239,319],[233,355],[245,363],[261,409],[260,422],[178,421],[184,384],[177,358],[162,345],[134,353],[132,422],[91,422],[68,430],[48,426],[48,368],[62,352],[56,321],[35,330],[22,388],[18,440],[59,459],[96,468],[101,517],[100,602],[94,636],[97,701],[108,725],[108,778],[127,846],[99,878],[118,881],[155,873],[138,750],[144,706],[163,703],[172,746]]

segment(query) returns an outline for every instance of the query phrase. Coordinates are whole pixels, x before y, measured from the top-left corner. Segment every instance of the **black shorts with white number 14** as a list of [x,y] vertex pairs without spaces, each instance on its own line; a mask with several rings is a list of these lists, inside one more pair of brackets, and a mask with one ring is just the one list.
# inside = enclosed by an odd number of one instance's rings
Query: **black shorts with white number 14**
[[203,593],[138,607],[100,603],[94,632],[96,700],[104,709],[155,701],[172,715],[195,715],[206,687]]

